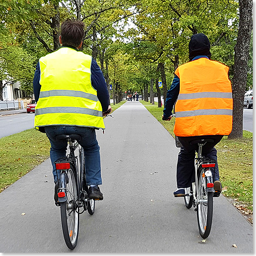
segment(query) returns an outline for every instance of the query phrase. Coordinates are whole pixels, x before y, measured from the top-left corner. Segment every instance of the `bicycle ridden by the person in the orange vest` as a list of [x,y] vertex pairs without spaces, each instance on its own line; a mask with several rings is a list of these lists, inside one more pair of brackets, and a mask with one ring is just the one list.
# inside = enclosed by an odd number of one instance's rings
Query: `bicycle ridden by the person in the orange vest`
[[[175,114],[172,115],[175,117]],[[167,120],[162,118],[162,120]],[[194,180],[191,186],[185,188],[185,205],[190,209],[193,205],[194,211],[197,212],[197,223],[200,236],[207,238],[211,231],[212,214],[213,214],[213,198],[219,197],[220,192],[214,190],[214,170],[216,161],[210,157],[202,155],[203,146],[208,142],[214,142],[214,139],[203,138],[191,141],[190,144],[198,144],[198,153],[194,159]],[[181,148],[178,137],[175,136],[175,144],[177,148]]]

